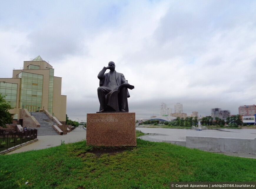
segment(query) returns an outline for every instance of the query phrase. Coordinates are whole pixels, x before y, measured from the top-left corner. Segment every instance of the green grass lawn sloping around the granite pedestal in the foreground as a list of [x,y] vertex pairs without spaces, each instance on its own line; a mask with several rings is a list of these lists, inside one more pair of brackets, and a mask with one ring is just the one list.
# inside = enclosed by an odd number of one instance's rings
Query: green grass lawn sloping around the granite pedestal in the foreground
[[[0,188],[169,188],[171,181],[256,181],[256,159],[137,139],[116,154],[86,141],[0,156]],[[98,148],[104,152],[108,149]],[[25,182],[28,182],[25,185]]]

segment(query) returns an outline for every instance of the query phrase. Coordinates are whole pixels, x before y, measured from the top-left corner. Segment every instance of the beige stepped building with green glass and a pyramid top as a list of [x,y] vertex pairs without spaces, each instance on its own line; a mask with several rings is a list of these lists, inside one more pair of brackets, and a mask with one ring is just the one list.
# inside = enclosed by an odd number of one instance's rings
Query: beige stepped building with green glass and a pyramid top
[[13,70],[12,78],[0,78],[0,93],[13,109],[14,120],[20,109],[28,112],[46,110],[61,123],[66,122],[67,96],[61,95],[61,77],[54,76],[53,67],[40,56],[24,61],[23,69]]

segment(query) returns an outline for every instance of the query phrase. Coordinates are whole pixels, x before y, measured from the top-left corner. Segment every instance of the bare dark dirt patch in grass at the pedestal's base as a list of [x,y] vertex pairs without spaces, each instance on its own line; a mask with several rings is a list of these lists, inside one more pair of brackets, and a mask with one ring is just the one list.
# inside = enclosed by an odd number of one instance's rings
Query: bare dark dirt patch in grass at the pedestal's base
[[102,154],[109,154],[110,156],[122,153],[126,150],[132,150],[134,147],[94,147],[92,150],[87,151],[87,153],[92,153],[97,156],[101,156]]

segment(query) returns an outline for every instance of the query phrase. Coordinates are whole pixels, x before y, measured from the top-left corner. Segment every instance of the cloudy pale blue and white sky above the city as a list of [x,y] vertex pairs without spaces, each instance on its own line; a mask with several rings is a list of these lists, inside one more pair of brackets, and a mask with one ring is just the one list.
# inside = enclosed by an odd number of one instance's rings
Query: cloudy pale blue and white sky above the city
[[97,74],[124,74],[129,111],[238,114],[256,104],[256,1],[0,0],[0,77],[38,55],[62,77],[69,119],[99,110]]

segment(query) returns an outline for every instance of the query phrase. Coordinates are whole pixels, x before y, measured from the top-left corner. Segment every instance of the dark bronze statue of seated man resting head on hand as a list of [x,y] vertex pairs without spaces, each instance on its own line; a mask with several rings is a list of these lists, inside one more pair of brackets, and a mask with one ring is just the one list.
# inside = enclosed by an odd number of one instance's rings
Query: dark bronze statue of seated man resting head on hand
[[[127,88],[133,89],[134,86],[129,85],[124,74],[115,71],[115,67],[115,63],[110,61],[98,74],[99,112],[129,112],[127,98],[130,95]],[[107,69],[110,71],[105,74]]]

